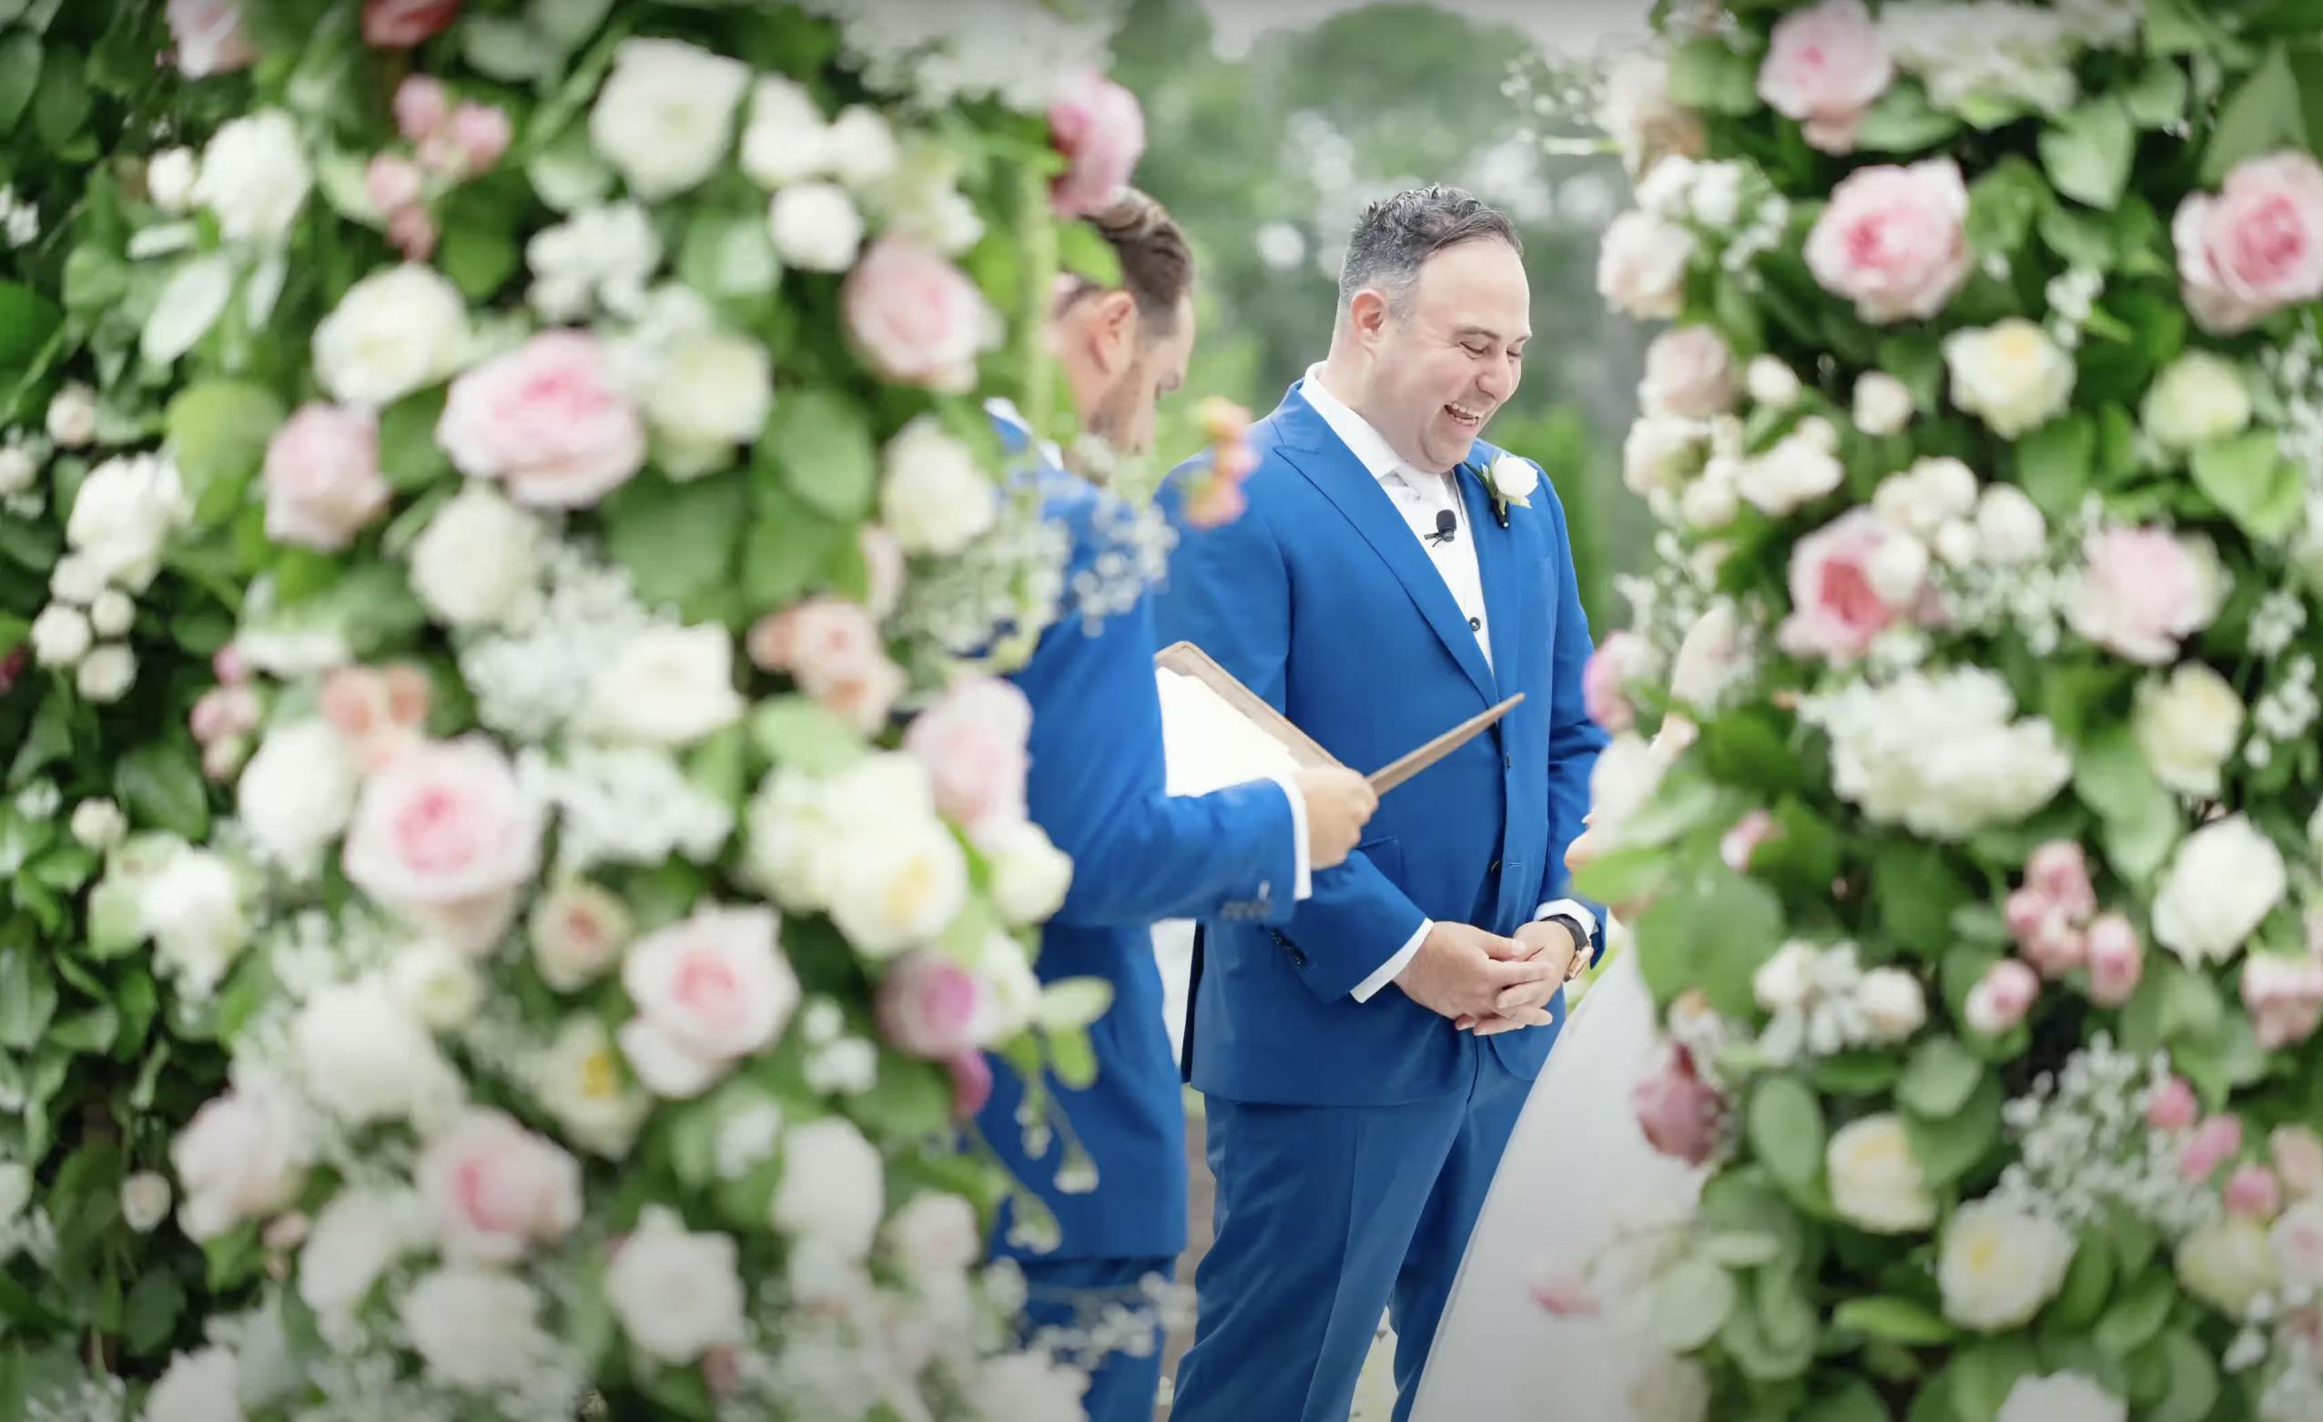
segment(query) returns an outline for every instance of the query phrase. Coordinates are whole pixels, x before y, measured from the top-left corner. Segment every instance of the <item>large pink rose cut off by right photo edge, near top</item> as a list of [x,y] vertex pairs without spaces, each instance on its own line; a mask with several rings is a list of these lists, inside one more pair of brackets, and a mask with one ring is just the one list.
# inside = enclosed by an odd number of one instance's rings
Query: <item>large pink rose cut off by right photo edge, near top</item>
[[2323,167],[2297,151],[2239,163],[2218,195],[2179,204],[2170,242],[2186,309],[2211,335],[2311,302],[2323,295]]

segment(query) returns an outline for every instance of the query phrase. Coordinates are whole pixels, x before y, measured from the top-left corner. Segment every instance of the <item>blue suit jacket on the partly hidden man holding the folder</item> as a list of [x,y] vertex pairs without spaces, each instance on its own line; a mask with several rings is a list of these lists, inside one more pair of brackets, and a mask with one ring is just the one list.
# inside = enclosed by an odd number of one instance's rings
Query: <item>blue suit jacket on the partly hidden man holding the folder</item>
[[[1022,448],[1022,430],[1001,421]],[[1073,574],[1103,551],[1108,495],[1057,469],[1043,472],[1048,516],[1073,532]],[[1155,688],[1152,597],[1096,630],[1066,611],[1011,681],[1031,702],[1034,823],[1073,857],[1073,888],[1041,932],[1043,983],[1103,978],[1113,1008],[1089,1027],[1096,1083],[1048,1087],[1066,1129],[1096,1164],[1094,1192],[1066,1194],[1057,1169],[1064,1134],[1038,1159],[1024,1150],[1015,1071],[994,1060],[992,1101],[978,1125],[1008,1169],[1055,1213],[1057,1250],[1006,1243],[994,1252],[1045,1259],[1155,1259],[1185,1248],[1185,1097],[1162,1020],[1152,925],[1162,918],[1282,922],[1296,892],[1299,846],[1289,797],[1271,781],[1215,795],[1164,790],[1162,697]]]

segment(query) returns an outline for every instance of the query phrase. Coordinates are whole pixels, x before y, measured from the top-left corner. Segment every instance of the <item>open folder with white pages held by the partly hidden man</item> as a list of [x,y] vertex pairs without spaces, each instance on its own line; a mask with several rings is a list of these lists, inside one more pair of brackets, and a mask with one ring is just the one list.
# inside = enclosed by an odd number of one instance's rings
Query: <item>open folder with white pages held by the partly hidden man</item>
[[[1336,767],[1338,760],[1210,653],[1178,641],[1155,653],[1171,795],[1203,795],[1268,774]],[[1368,776],[1387,795],[1508,716],[1522,695],[1443,732]],[[1231,713],[1231,716],[1229,716]]]

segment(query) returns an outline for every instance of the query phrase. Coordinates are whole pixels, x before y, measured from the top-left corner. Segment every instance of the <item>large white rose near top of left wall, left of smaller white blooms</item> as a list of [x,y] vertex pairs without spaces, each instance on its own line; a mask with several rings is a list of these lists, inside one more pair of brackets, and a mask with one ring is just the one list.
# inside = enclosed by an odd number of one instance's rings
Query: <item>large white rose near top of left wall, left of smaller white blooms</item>
[[588,135],[634,195],[671,198],[718,170],[748,86],[741,60],[676,40],[623,40]]

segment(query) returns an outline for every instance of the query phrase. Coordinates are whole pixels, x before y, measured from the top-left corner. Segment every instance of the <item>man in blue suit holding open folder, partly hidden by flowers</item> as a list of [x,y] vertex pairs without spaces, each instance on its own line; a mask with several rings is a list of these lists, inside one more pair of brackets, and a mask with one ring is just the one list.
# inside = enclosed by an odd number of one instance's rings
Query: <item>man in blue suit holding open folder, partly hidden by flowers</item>
[[[1122,260],[1122,286],[1066,293],[1050,337],[1083,428],[1138,453],[1152,441],[1155,402],[1185,379],[1194,346],[1192,256],[1168,214],[1136,193],[1096,225]],[[1043,465],[1048,514],[1073,532],[1073,588],[1106,562],[1124,511],[1057,467],[1013,409],[992,414],[1001,439]],[[1034,713],[1029,811],[1073,857],[1036,971],[1103,978],[1113,1006],[1089,1027],[1096,1083],[1048,1080],[1064,1115],[1057,1139],[1043,1141],[1045,1120],[1017,1118],[1024,1090],[1011,1069],[994,1069],[978,1113],[985,1139],[1057,1222],[1052,1248],[1022,1220],[1004,1220],[994,1245],[1024,1269],[1031,1322],[1089,1331],[1110,1306],[1145,1315],[1129,1329],[1134,1343],[1099,1338],[1129,1348],[1094,1369],[1083,1399],[1092,1422],[1152,1420],[1162,1350],[1145,1290],[1171,1283],[1185,1250],[1185,1099],[1150,929],[1162,918],[1287,922],[1312,874],[1347,857],[1378,804],[1345,769],[1168,797],[1152,653],[1152,604],[1136,595],[1094,627],[1064,609],[1013,676]]]

